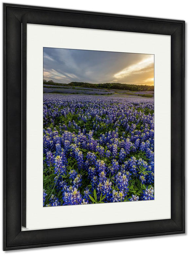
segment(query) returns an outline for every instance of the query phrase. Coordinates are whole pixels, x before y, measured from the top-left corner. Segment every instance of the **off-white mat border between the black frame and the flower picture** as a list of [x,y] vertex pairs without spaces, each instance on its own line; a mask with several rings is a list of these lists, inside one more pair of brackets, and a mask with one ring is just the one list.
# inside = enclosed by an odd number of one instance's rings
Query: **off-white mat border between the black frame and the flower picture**
[[[75,38],[81,38],[81,34],[83,40],[75,40]],[[51,38],[48,40],[47,35],[51,35]],[[65,38],[69,38],[69,40],[65,40]],[[101,40],[99,40],[100,38]],[[117,38],[117,41],[111,43],[112,38]],[[109,45],[107,42],[110,42]],[[27,118],[27,228],[58,228],[170,219],[170,186],[166,186],[164,190],[162,186],[163,176],[165,183],[170,184],[171,136],[170,100],[168,100],[170,99],[170,45],[171,38],[169,35],[66,28],[36,24],[27,25],[27,116],[29,117]],[[70,205],[66,207],[42,206],[43,47],[154,54],[154,200],[138,203],[105,203],[96,205]],[[34,74],[35,83],[33,81]],[[38,91],[37,94],[36,91]],[[35,104],[33,101],[34,98]],[[160,104],[160,99],[162,99],[162,105]],[[165,145],[164,148],[163,145]],[[99,215],[100,211],[104,212],[104,214]],[[109,214],[110,212],[112,214]]]

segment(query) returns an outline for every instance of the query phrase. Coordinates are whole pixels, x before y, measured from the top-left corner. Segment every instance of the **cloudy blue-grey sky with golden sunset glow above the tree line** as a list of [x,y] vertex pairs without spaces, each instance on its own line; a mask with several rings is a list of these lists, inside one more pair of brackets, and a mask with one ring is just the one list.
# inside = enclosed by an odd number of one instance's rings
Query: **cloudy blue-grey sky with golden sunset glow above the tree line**
[[154,55],[44,48],[44,79],[154,85]]

